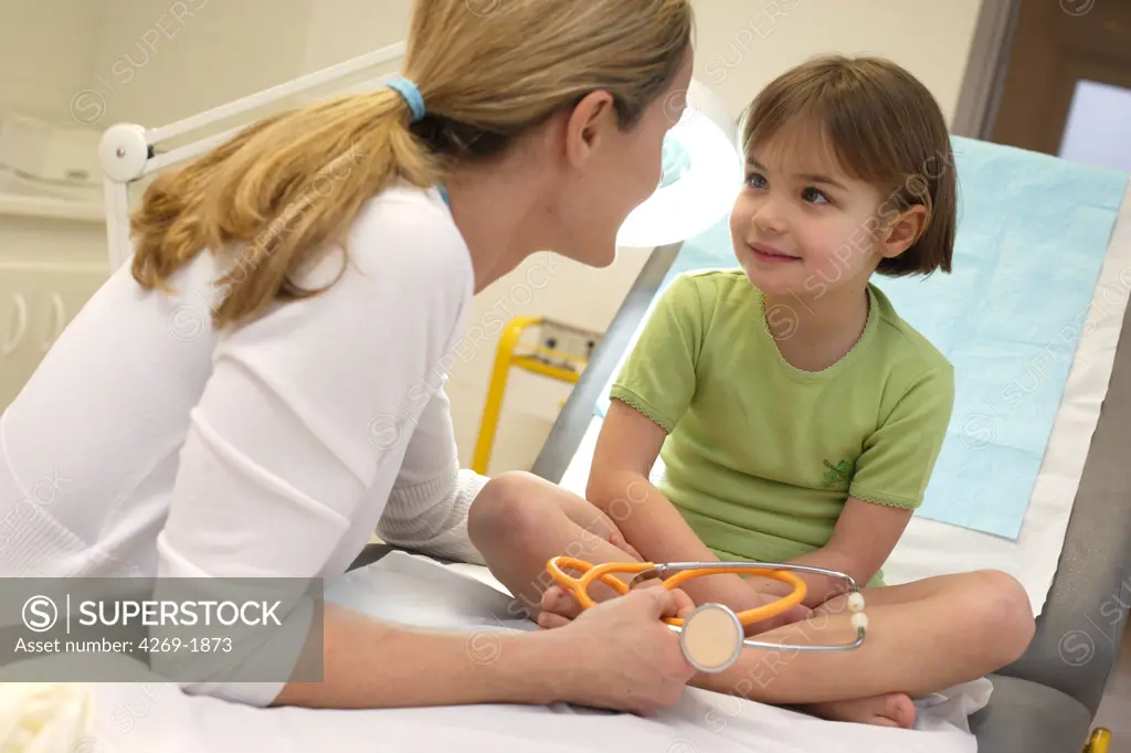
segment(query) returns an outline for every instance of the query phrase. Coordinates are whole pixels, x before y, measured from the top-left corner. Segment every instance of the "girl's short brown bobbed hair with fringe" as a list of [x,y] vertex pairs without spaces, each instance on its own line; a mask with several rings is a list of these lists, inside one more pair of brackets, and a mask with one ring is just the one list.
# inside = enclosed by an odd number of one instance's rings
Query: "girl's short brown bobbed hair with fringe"
[[887,216],[921,205],[920,236],[904,253],[880,261],[889,277],[950,271],[958,181],[947,122],[918,79],[882,58],[821,55],[792,68],[751,103],[743,148],[769,144],[801,127],[817,131],[849,176],[877,187]]

